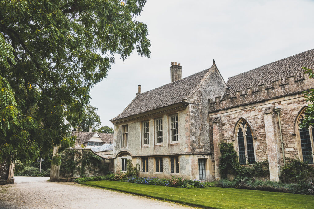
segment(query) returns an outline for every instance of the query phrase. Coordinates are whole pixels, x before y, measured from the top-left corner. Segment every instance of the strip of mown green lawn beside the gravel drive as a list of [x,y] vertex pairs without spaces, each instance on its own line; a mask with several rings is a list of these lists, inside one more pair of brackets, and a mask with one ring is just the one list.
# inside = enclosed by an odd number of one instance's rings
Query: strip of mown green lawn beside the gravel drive
[[314,208],[311,195],[220,187],[181,189],[109,180],[82,184],[209,208]]

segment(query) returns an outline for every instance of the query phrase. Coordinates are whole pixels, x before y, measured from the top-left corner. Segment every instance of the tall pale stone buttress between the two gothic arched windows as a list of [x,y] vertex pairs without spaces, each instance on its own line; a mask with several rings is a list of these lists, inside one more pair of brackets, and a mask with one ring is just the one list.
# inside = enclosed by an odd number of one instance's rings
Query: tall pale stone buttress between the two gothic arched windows
[[265,135],[271,181],[279,181],[279,146],[277,123],[275,122],[273,107],[264,110]]

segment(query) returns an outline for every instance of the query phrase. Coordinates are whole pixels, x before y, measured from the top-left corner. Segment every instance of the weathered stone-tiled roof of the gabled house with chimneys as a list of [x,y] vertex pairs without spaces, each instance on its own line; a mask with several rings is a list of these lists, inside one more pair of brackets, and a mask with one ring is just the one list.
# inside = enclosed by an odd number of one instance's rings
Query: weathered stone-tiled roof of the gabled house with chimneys
[[209,69],[138,94],[123,112],[111,121],[183,102],[198,87]]

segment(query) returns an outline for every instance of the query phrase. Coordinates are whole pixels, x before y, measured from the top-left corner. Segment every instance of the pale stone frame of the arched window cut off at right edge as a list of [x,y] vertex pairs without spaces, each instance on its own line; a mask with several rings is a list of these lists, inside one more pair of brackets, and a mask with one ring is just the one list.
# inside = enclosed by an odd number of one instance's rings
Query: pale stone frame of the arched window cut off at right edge
[[[300,123],[301,120],[306,116],[305,115],[305,111],[306,111],[306,107],[303,107],[300,112],[298,113],[297,117],[296,117],[296,123],[295,123],[295,133],[296,133],[296,138],[297,138],[297,149],[298,149],[298,155],[299,155],[299,159],[300,161],[304,162],[303,159],[303,151],[302,151],[302,143],[301,143],[301,136],[300,136]],[[312,126],[310,126],[308,128],[309,131],[309,136],[310,136],[310,144],[311,144],[311,152],[314,153],[314,128]],[[308,164],[308,165],[314,165],[314,156],[312,156],[312,161],[313,164]],[[305,162],[306,163],[306,162]]]

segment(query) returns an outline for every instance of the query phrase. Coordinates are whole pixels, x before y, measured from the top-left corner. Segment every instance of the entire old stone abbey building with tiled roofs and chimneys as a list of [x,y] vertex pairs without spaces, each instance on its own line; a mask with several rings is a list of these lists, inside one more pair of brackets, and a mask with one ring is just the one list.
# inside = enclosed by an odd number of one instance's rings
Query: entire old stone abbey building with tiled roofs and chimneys
[[114,124],[114,171],[126,162],[140,176],[219,179],[219,143],[233,143],[242,166],[268,160],[269,178],[279,180],[287,158],[313,165],[312,127],[300,128],[308,102],[303,91],[314,79],[314,49],[230,77],[215,63],[181,78],[171,63],[171,83],[138,93]]

